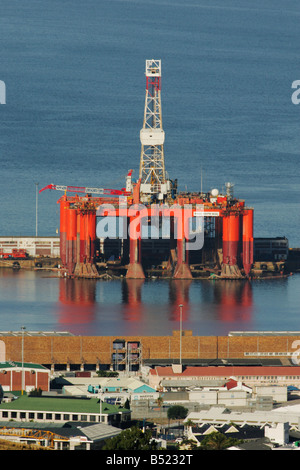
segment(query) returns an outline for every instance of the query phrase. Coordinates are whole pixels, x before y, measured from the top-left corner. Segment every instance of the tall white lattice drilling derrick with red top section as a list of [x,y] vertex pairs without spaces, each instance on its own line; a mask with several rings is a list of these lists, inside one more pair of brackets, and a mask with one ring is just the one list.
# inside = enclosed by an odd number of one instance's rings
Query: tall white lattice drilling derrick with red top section
[[150,202],[166,198],[170,181],[164,160],[165,133],[161,112],[161,61],[146,60],[146,98],[143,128],[140,131],[140,199]]

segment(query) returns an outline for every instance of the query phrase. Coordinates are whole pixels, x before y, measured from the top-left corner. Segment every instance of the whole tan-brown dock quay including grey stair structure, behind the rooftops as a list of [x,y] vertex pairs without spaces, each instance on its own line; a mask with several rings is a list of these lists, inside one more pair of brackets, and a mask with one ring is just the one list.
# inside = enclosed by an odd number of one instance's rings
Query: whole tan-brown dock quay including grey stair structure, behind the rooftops
[[143,366],[298,365],[300,331],[194,336],[76,336],[69,332],[2,331],[0,363],[39,363],[53,371],[130,370]]

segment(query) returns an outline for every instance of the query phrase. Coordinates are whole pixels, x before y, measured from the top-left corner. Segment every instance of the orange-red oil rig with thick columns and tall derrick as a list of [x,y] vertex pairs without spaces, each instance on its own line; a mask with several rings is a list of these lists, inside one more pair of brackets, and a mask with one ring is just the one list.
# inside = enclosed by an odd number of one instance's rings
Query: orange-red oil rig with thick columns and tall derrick
[[[48,185],[60,205],[62,275],[127,279],[248,279],[253,266],[253,208],[220,193],[179,192],[165,169],[161,61],[146,60],[139,176],[120,190]],[[67,193],[75,193],[68,195]]]

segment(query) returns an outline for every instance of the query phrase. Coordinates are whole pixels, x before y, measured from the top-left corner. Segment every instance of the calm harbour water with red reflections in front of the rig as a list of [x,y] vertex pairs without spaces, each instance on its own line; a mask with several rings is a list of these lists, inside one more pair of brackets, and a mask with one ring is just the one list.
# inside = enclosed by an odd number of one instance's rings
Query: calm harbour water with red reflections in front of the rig
[[70,280],[0,270],[0,329],[79,335],[300,331],[300,274],[264,281]]

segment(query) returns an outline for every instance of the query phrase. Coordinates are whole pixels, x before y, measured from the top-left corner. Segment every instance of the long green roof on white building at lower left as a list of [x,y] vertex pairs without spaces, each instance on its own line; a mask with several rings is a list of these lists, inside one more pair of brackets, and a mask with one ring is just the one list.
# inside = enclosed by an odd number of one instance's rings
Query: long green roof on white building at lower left
[[[21,395],[10,403],[1,403],[0,410],[53,411],[66,413],[100,413],[100,402],[97,398],[53,398],[29,397]],[[126,408],[102,403],[102,413],[116,414],[128,412]]]

